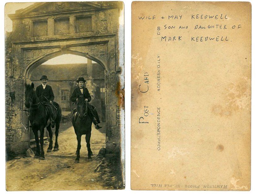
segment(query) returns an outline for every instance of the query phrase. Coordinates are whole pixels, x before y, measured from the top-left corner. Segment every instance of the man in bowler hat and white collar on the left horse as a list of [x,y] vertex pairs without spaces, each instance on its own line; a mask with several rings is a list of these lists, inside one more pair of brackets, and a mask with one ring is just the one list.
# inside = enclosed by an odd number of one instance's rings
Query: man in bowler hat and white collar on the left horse
[[53,109],[56,110],[56,108],[53,105],[54,94],[52,91],[52,87],[47,84],[48,78],[46,75],[42,75],[40,80],[42,81],[42,84],[40,84],[36,88],[36,94],[37,94],[40,102],[46,106],[50,120],[51,120],[51,127],[54,128],[55,124],[56,124],[54,121],[56,114]]

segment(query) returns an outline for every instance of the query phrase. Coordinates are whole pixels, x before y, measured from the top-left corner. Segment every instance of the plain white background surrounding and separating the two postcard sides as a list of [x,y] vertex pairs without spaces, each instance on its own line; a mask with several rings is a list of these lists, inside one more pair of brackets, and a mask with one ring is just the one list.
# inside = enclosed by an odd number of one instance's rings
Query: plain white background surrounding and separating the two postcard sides
[[[45,0],[44,0],[45,1]],[[72,1],[72,0],[69,0]],[[78,0],[77,0],[78,1]],[[197,0],[200,1],[200,0]],[[204,0],[207,1],[207,0]],[[216,1],[216,0],[215,0]],[[241,0],[240,0],[241,1]],[[31,1],[11,1],[11,2],[31,2]],[[32,0],[32,2],[40,2]],[[50,2],[50,1],[45,1]],[[130,170],[131,170],[131,0],[124,1],[125,4],[125,190],[108,190],[108,191],[22,191],[21,193],[47,193],[47,192],[54,192],[54,193],[166,193],[166,192],[178,192],[178,193],[198,193],[199,191],[131,191],[130,187]],[[1,134],[0,134],[0,156],[1,156],[1,167],[0,167],[0,192],[7,192],[5,190],[5,82],[4,82],[4,4],[7,3],[7,1],[1,2],[1,65],[0,65],[0,98],[1,98],[1,104],[0,104],[0,125],[1,125]],[[255,30],[255,1],[251,1],[252,3],[252,181],[251,181],[251,191],[249,193],[255,193],[256,192],[256,179],[255,179],[255,165],[256,165],[256,159],[255,159],[255,37],[253,35],[256,34]],[[150,158],[148,158],[150,160]],[[56,180],[58,181],[58,180]],[[19,191],[14,191],[12,193],[17,193]],[[248,193],[248,191],[229,191],[230,192],[236,192],[240,193]],[[227,191],[200,191],[200,193],[227,193]]]

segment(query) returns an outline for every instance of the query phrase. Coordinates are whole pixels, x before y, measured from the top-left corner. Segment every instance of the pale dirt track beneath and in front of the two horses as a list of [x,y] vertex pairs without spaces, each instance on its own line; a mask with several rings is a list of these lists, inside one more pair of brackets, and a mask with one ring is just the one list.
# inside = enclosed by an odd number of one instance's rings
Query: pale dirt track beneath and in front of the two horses
[[[105,147],[105,136],[105,133],[92,128],[90,144],[94,157],[101,148]],[[87,159],[84,135],[78,164],[74,163],[77,140],[73,126],[62,130],[58,141],[59,150],[56,152],[47,153],[49,142],[44,143],[45,160],[16,157],[7,161],[6,189],[8,191],[111,189],[102,181],[102,173],[94,172],[100,161]]]

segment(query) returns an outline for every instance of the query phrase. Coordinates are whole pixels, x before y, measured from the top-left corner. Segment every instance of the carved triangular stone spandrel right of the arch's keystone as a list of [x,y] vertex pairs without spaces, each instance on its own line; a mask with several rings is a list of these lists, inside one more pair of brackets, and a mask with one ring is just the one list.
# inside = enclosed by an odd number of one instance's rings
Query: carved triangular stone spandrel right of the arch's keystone
[[102,59],[104,62],[108,61],[108,45],[107,43],[92,44],[92,45],[79,45],[72,46],[70,48],[84,51],[86,54],[96,56]]

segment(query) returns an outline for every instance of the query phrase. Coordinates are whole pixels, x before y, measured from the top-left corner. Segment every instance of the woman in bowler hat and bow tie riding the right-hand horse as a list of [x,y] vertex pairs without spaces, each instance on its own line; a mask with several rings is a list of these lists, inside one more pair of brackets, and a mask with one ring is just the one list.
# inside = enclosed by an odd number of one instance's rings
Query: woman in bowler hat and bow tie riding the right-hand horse
[[[71,94],[70,100],[72,102],[76,102],[76,100],[81,95],[84,96],[85,101],[87,101],[87,102],[91,101],[90,93],[89,93],[88,89],[84,87],[85,82],[86,82],[86,80],[84,80],[84,78],[82,78],[82,77],[78,78],[77,83],[79,84],[79,87],[75,88]],[[75,111],[76,110],[74,110],[74,112]],[[88,107],[88,113],[89,113],[90,118],[92,119],[92,122],[94,123],[94,125],[96,125],[96,129],[102,128],[102,126],[100,124],[100,118],[98,116],[98,112],[94,106],[90,105],[90,107]]]

